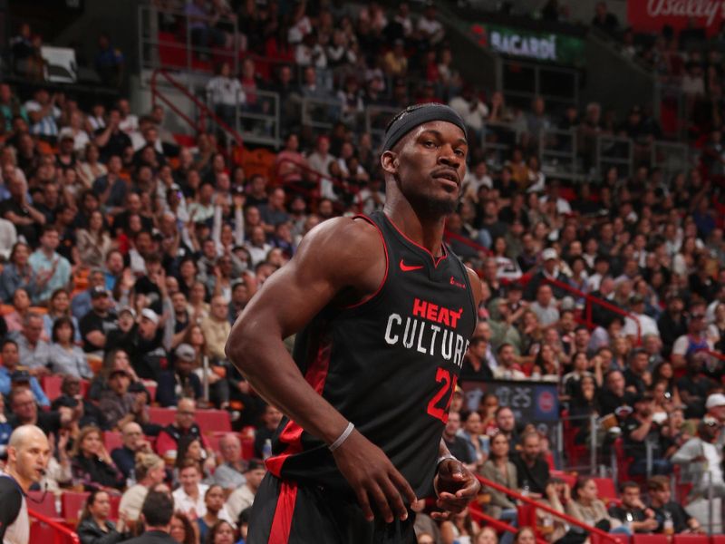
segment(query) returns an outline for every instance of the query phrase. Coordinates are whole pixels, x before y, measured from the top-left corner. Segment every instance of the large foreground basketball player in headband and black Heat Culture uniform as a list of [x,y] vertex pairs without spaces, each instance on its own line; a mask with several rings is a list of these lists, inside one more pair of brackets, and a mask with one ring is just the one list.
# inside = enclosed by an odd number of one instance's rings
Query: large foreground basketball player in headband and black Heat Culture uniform
[[[447,512],[475,497],[441,441],[480,298],[443,243],[467,151],[448,106],[399,113],[383,144],[384,212],[314,228],[234,325],[227,355],[289,416],[250,544],[415,542],[417,497],[435,490]],[[297,331],[293,360],[283,339]]]

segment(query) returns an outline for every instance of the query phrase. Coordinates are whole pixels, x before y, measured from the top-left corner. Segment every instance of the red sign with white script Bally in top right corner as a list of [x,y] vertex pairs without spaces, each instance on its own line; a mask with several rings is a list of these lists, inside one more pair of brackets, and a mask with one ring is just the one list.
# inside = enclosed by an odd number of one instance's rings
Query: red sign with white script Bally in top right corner
[[635,32],[659,32],[665,24],[681,30],[692,21],[716,34],[725,20],[725,0],[628,0],[627,18]]

